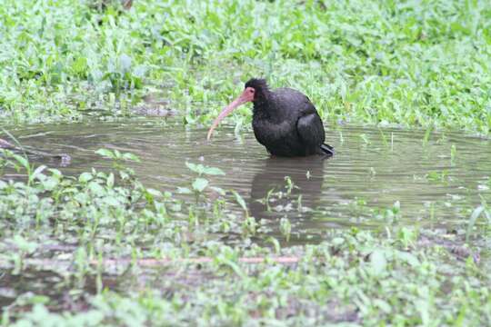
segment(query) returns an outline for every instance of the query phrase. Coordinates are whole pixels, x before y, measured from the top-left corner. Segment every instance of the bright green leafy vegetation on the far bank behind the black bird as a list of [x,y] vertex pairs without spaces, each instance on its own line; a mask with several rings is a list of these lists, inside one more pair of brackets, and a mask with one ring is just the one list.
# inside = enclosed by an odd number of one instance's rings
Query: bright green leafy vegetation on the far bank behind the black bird
[[151,88],[187,124],[208,123],[264,76],[308,94],[331,123],[490,131],[486,1],[94,3],[5,1],[3,119],[128,114]]

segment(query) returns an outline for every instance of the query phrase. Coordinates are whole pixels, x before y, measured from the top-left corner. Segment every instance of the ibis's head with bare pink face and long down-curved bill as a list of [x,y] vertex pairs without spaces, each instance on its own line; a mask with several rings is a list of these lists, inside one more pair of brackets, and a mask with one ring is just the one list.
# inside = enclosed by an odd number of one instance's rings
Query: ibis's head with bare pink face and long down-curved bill
[[220,114],[215,118],[212,126],[208,130],[208,135],[206,139],[209,140],[216,126],[230,113],[234,111],[236,107],[241,104],[246,104],[248,102],[264,101],[266,98],[268,88],[265,79],[261,78],[251,78],[246,82],[244,91],[240,94],[234,101],[225,106]]

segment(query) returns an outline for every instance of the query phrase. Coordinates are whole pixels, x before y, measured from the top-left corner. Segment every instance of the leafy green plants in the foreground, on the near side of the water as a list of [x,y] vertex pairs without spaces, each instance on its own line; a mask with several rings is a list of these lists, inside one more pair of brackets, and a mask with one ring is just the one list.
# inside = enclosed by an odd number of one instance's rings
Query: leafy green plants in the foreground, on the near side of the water
[[[278,240],[285,242],[289,233],[258,243],[264,222],[227,214],[242,206],[236,193],[177,200],[138,182],[125,168],[134,155],[98,153],[115,160],[118,170],[70,177],[4,153],[2,167],[27,173],[25,181],[0,180],[5,325],[491,322],[489,253],[481,242],[491,232],[491,211],[484,202],[462,226],[469,243],[477,244],[472,247],[454,230],[397,223],[371,232],[326,230],[322,243],[282,247]],[[188,167],[196,179],[223,173]],[[298,262],[240,261],[278,256]],[[200,257],[211,262],[192,262]],[[171,261],[145,265],[163,258]],[[107,262],[113,259],[127,261]]]

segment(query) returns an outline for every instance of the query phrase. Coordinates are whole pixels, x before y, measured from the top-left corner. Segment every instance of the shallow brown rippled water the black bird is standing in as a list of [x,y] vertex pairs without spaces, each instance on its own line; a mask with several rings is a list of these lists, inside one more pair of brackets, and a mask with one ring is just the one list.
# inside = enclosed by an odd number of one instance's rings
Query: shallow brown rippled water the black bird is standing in
[[336,148],[327,159],[272,158],[252,132],[237,137],[221,126],[206,142],[205,128],[156,119],[39,125],[12,133],[32,148],[69,154],[70,164],[59,168],[69,174],[109,168],[111,162],[94,153],[99,148],[131,152],[142,161],[131,163],[138,178],[159,190],[189,185],[195,173],[185,162],[219,167],[226,175],[211,176],[210,183],[240,193],[257,219],[287,217],[294,242],[328,227],[463,223],[479,195],[491,194],[491,141],[456,133],[431,134],[425,142],[425,131],[337,126],[326,134]]

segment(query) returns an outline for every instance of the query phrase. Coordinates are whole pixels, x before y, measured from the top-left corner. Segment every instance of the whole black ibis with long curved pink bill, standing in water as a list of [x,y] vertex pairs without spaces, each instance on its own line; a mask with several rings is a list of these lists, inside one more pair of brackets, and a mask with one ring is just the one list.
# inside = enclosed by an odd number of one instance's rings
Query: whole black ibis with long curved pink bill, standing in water
[[244,91],[225,106],[208,130],[209,141],[215,128],[236,107],[253,103],[253,130],[257,142],[269,154],[281,157],[335,154],[326,144],[324,124],[310,99],[288,87],[270,90],[265,79],[251,78]]

